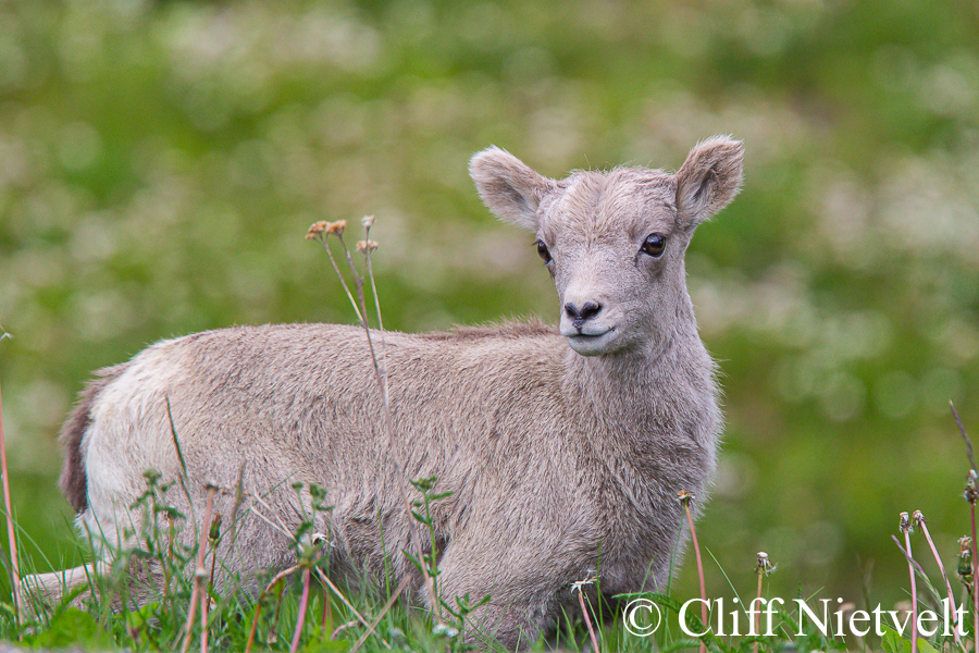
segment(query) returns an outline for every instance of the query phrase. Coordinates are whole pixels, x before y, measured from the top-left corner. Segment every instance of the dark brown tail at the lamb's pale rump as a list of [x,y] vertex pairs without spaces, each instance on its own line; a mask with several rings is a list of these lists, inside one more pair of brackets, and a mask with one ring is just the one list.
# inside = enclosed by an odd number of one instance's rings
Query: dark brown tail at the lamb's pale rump
[[82,458],[82,439],[91,423],[91,407],[99,392],[114,381],[125,370],[126,365],[104,368],[96,372],[96,379],[88,382],[78,395],[78,404],[61,428],[58,441],[64,453],[61,478],[58,484],[76,513],[88,507],[88,473]]

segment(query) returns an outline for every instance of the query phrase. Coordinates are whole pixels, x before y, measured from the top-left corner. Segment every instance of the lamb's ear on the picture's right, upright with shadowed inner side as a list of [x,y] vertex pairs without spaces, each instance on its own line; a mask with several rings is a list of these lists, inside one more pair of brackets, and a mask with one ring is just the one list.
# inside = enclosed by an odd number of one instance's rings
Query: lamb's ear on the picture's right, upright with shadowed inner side
[[741,190],[744,144],[730,136],[702,140],[674,175],[677,210],[687,229],[707,220]]

